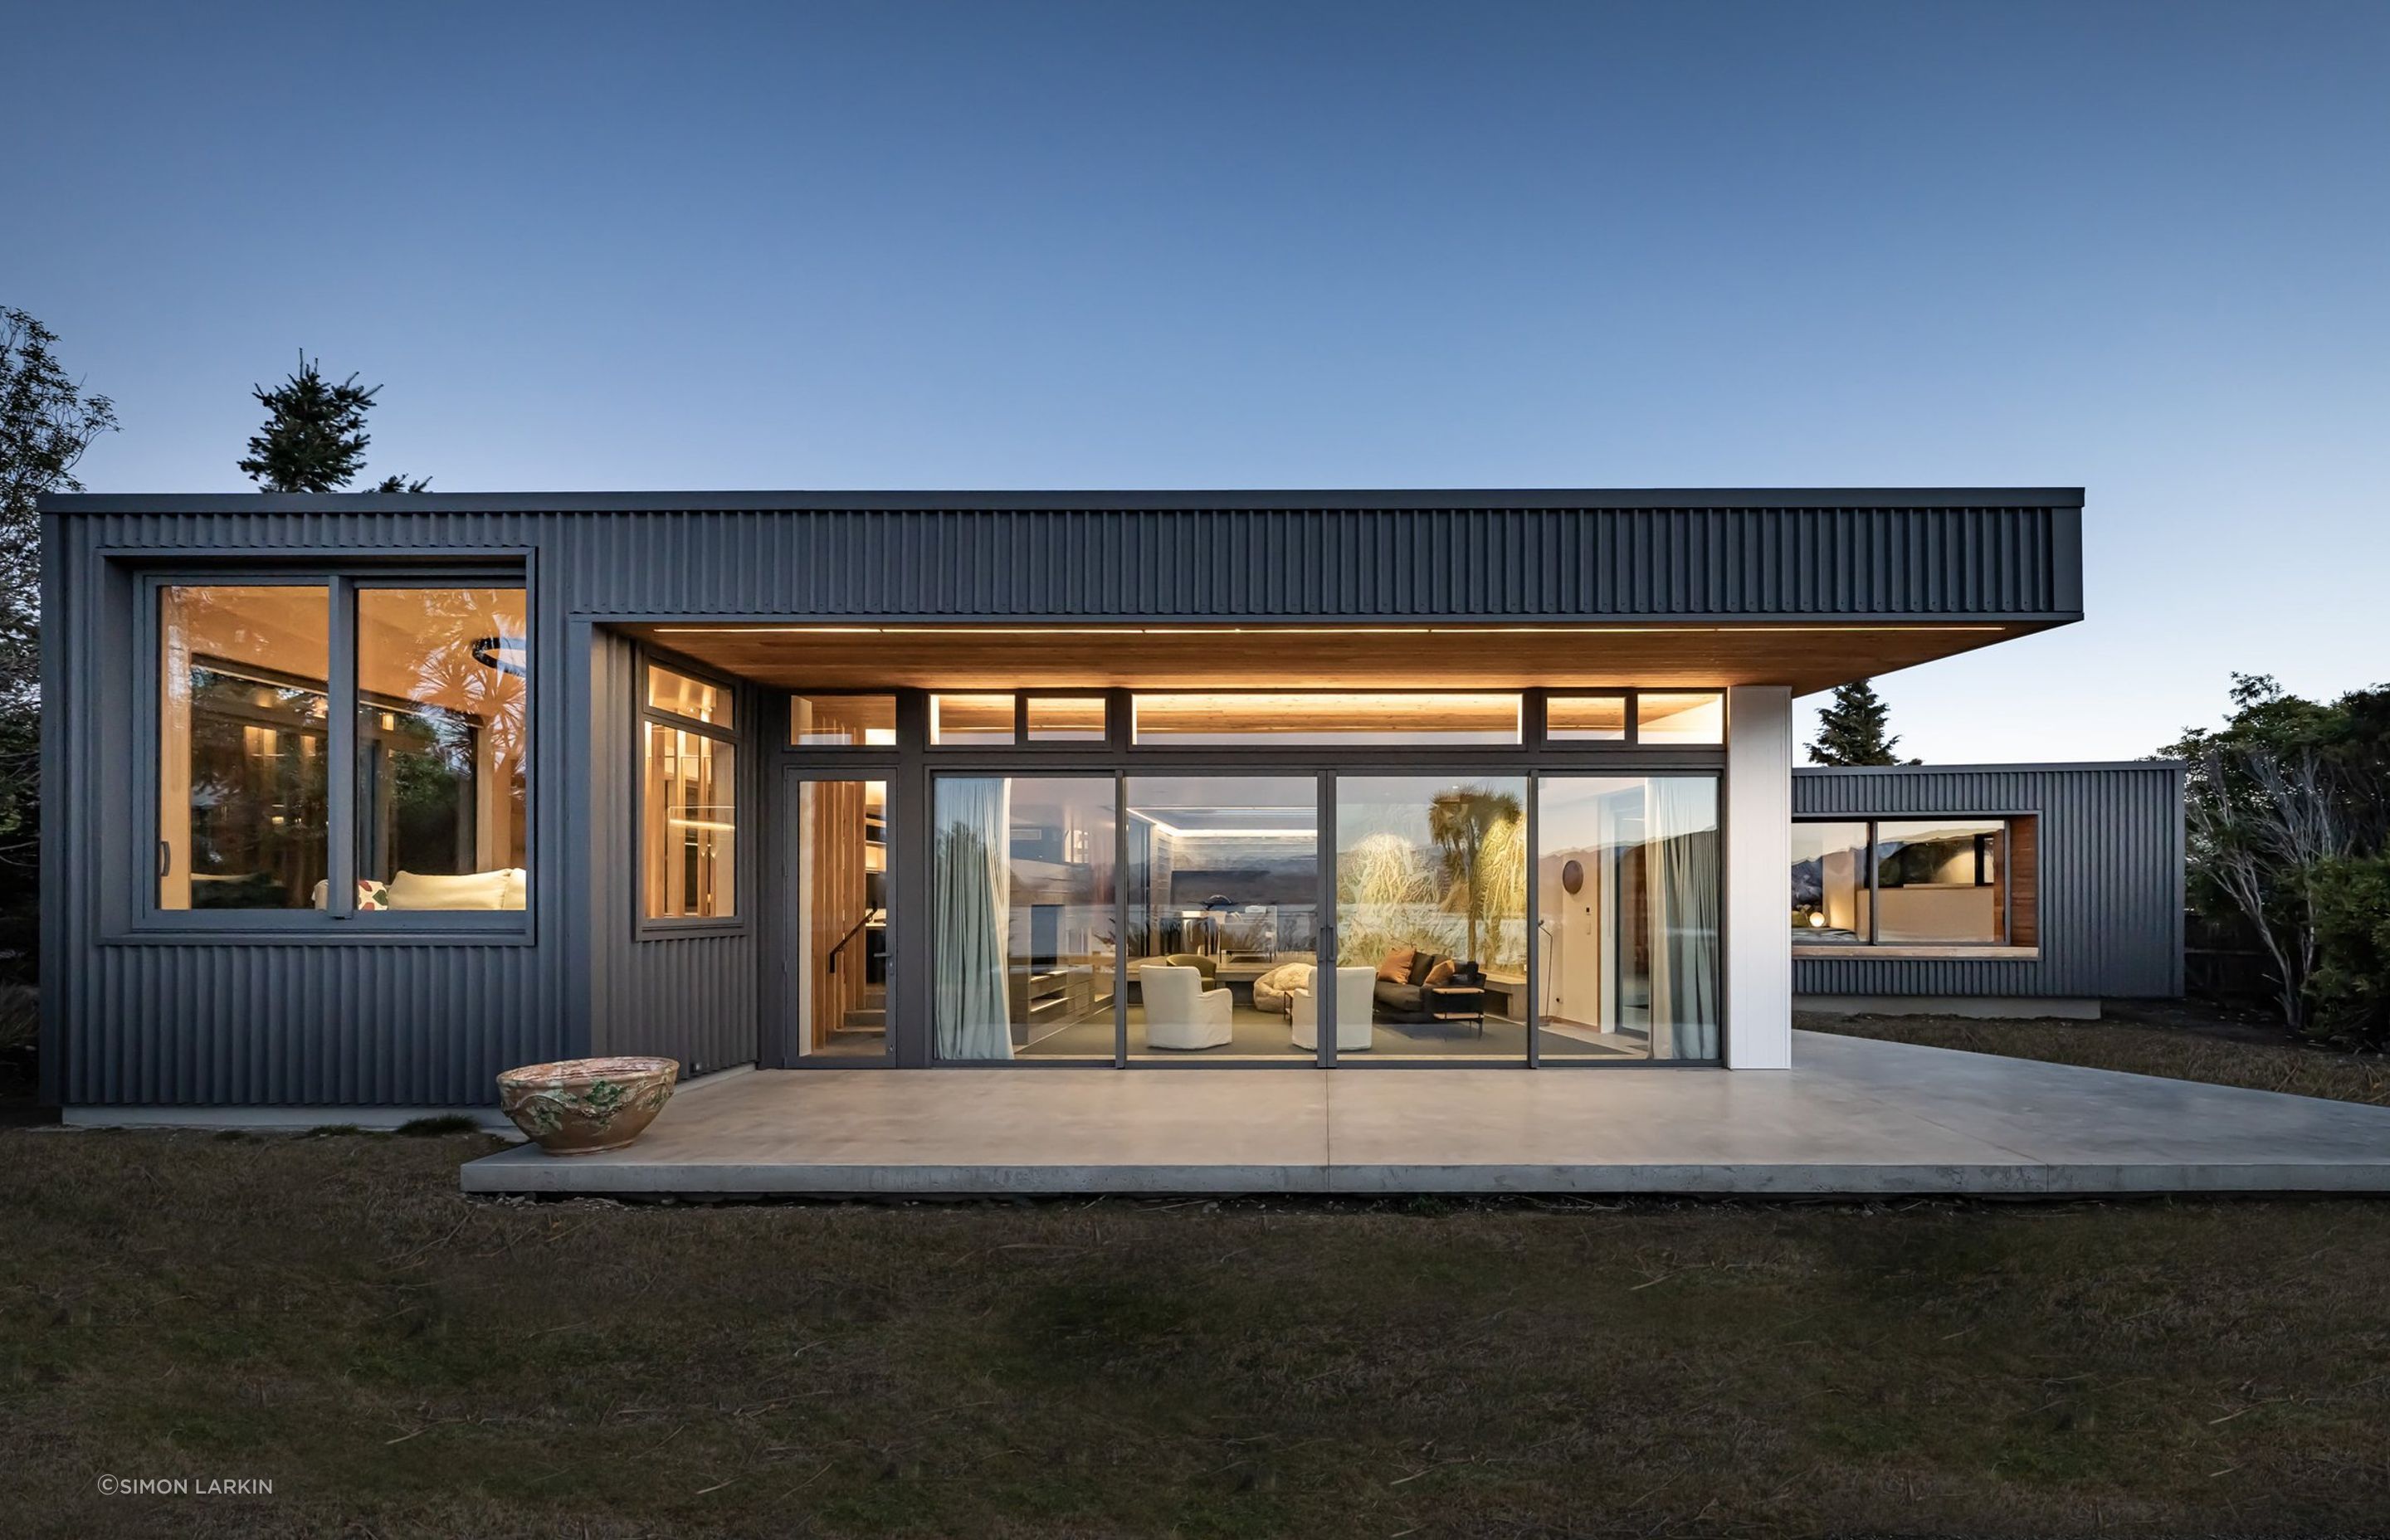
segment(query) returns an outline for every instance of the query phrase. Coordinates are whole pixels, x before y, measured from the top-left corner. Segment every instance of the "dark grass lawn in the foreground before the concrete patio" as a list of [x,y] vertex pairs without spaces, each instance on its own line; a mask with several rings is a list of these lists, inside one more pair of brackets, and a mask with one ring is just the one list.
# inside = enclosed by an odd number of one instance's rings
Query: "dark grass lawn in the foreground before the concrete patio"
[[0,1528],[2390,1523],[2390,1203],[466,1203],[485,1148],[0,1133]]

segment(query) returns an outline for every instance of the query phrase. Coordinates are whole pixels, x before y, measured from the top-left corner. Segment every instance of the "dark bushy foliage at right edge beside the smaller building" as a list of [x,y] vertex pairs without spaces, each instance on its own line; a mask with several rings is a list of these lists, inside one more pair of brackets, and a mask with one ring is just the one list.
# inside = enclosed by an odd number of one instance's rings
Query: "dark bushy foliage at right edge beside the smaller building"
[[2168,753],[2187,763],[2192,909],[2266,952],[2285,1026],[2385,1045],[2390,689],[2318,703],[2235,674],[2232,717]]

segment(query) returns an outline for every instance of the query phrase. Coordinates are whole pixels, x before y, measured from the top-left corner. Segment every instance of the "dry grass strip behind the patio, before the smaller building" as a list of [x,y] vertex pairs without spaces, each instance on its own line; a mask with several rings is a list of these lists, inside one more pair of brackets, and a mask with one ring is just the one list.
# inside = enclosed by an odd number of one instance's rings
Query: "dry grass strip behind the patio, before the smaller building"
[[2208,1028],[2146,1021],[1967,1021],[1960,1016],[1802,1016],[1800,1026],[1924,1043],[1926,1047],[1962,1047],[2010,1059],[2046,1059],[2086,1069],[2122,1069],[2156,1074],[2170,1081],[2206,1081],[2211,1086],[2249,1086],[2254,1090],[2290,1090],[2335,1102],[2373,1102],[2390,1107],[2390,1059],[2309,1047],[2290,1040],[2251,1040],[2247,1028]]

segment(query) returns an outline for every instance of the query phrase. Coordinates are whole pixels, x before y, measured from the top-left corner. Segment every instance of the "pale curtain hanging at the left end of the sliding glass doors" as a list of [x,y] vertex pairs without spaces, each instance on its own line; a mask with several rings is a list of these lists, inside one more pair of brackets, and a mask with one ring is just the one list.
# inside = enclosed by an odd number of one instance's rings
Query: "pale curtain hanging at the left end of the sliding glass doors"
[[1011,1059],[1011,782],[937,782],[937,1057]]

